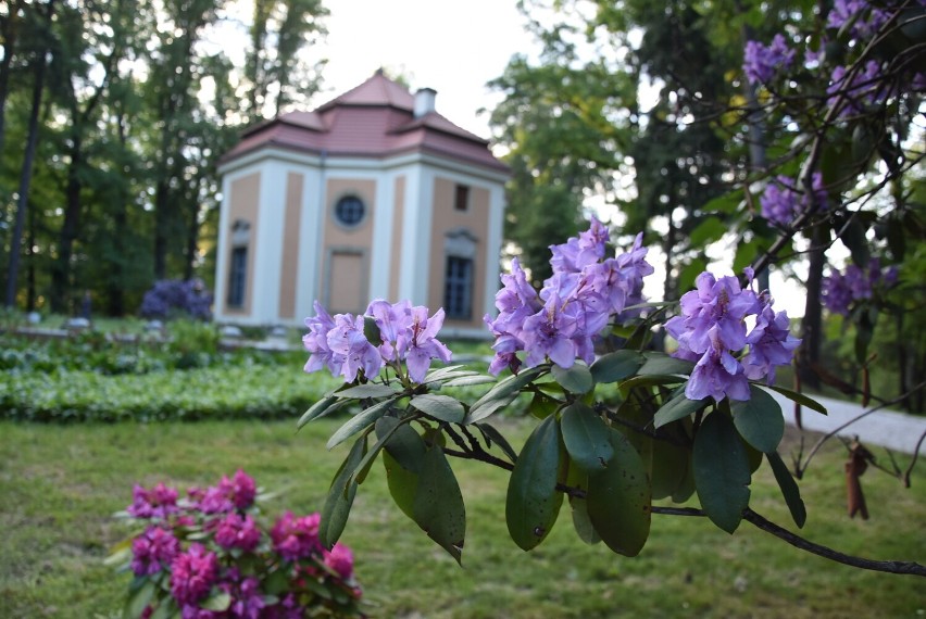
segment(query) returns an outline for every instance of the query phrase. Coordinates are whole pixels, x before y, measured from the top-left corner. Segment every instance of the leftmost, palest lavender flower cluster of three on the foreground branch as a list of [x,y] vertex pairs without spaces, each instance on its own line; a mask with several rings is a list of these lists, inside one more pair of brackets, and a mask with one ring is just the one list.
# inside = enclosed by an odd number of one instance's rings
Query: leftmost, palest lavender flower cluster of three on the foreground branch
[[365,333],[364,316],[331,317],[316,301],[315,316],[305,319],[309,333],[302,338],[311,353],[304,369],[311,372],[327,367],[334,376],[353,382],[360,372],[373,378],[386,365],[401,371],[404,363],[409,378],[422,382],[431,359],[448,363],[451,358],[450,350],[437,339],[443,326],[443,310],[430,317],[427,313],[427,307],[413,306],[410,301],[390,304],[377,299],[365,312],[379,331],[376,341],[371,341]]

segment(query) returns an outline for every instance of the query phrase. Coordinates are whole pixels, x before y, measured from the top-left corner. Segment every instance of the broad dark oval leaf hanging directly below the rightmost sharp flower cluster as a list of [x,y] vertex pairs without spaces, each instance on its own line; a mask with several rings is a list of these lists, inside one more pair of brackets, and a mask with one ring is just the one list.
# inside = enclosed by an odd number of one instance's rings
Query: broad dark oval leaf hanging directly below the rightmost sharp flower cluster
[[692,467],[701,507],[714,525],[733,533],[749,505],[752,476],[739,434],[723,413],[708,415],[698,429]]

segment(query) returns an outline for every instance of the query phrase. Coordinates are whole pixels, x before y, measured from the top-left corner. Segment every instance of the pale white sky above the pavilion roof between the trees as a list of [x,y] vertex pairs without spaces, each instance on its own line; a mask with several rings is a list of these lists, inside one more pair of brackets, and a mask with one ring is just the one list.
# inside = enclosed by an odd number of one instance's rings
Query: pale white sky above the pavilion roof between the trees
[[412,90],[437,91],[437,111],[460,127],[489,138],[487,114],[500,101],[486,83],[509,59],[536,43],[515,0],[329,0],[322,55],[324,88],[313,103],[360,85],[381,67],[398,72]]

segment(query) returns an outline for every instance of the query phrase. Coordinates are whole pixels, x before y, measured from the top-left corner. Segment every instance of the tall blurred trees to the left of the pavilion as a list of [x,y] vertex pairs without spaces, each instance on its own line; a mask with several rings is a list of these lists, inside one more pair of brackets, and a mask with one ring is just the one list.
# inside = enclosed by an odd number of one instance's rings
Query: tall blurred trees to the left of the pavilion
[[209,278],[217,160],[317,91],[326,14],[321,0],[0,5],[5,305],[67,313],[89,290],[123,315],[157,279]]

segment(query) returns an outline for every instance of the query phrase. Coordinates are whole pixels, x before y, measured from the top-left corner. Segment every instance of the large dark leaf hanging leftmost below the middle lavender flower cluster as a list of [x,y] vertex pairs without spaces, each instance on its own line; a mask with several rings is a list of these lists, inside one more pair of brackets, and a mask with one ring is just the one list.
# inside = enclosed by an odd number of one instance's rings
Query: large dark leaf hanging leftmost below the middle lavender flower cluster
[[547,538],[560,514],[560,426],[551,415],[528,437],[511,471],[505,520],[511,539],[524,551]]

